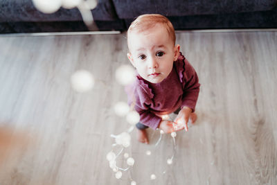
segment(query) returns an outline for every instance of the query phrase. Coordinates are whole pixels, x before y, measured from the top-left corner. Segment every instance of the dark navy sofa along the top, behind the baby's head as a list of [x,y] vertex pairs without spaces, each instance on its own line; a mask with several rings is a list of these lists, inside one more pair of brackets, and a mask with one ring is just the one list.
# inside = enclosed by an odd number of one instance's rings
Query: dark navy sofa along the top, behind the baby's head
[[[99,0],[91,12],[99,30],[126,30],[145,13],[165,15],[177,30],[277,28],[277,0]],[[77,8],[44,14],[31,0],[1,0],[0,33],[86,30]]]

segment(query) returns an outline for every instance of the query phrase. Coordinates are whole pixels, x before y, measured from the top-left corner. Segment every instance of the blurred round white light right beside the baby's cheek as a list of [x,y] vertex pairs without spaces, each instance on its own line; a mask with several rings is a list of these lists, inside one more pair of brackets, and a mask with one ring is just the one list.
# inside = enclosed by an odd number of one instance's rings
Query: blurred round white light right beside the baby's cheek
[[134,68],[129,65],[122,65],[116,69],[116,80],[120,85],[128,85],[135,79]]

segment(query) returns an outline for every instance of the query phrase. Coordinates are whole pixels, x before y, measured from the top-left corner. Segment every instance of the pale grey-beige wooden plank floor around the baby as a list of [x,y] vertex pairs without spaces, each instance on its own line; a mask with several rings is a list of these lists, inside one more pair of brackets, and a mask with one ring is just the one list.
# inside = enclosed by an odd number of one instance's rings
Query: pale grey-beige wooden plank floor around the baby
[[[177,43],[202,84],[197,123],[177,133],[172,165],[170,136],[155,148],[158,132],[146,146],[133,131],[135,165],[118,180],[106,155],[110,134],[129,127],[113,111],[127,100],[114,79],[125,34],[0,37],[0,184],[277,184],[277,32],[177,33]],[[78,69],[93,73],[93,90],[71,89]]]

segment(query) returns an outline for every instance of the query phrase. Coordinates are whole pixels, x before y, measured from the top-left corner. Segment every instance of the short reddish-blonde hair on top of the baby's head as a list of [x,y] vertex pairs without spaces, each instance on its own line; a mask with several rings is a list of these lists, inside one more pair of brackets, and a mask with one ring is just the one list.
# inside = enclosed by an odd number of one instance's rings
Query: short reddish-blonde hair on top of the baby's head
[[168,18],[159,14],[140,15],[134,21],[132,21],[132,24],[129,26],[127,30],[127,40],[129,33],[131,33],[132,31],[143,32],[145,30],[153,28],[157,24],[161,24],[166,28],[166,30],[168,31],[168,35],[170,36],[170,38],[173,41],[173,44],[175,45],[176,36],[172,23],[170,22],[170,20],[168,20]]

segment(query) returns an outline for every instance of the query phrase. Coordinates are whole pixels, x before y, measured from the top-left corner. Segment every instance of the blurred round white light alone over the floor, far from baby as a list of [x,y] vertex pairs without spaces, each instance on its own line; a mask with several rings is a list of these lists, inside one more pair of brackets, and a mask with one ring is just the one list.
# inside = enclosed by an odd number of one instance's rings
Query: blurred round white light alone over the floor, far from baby
[[71,76],[71,85],[75,91],[86,92],[92,89],[94,78],[89,71],[75,71]]

